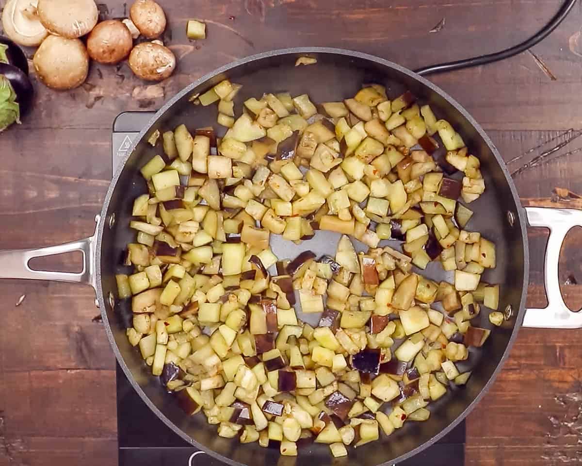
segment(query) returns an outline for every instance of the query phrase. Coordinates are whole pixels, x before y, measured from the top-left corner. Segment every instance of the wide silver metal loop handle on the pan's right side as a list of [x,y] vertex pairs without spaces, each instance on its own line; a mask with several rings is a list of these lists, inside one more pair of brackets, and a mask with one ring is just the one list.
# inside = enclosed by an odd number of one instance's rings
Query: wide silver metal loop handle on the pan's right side
[[566,234],[572,227],[582,226],[582,211],[576,209],[549,209],[525,207],[530,227],[548,228],[549,238],[544,260],[544,286],[548,306],[544,309],[526,309],[524,327],[538,329],[580,329],[582,312],[572,312],[560,292],[558,261]]

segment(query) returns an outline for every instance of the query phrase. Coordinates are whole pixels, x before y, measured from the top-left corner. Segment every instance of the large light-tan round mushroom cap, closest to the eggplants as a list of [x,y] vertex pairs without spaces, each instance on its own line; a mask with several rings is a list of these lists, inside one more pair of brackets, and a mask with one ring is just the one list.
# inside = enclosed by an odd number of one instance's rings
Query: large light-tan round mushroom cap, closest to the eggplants
[[79,39],[48,36],[33,58],[38,79],[57,90],[79,87],[87,79],[89,55]]

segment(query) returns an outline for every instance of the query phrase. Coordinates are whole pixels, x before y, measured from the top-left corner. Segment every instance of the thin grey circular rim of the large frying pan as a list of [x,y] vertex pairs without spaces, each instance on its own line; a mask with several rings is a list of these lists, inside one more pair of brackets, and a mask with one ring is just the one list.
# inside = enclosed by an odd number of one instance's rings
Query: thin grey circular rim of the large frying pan
[[[405,75],[408,75],[413,79],[416,79],[418,82],[420,82],[424,86],[428,87],[432,91],[435,91],[436,93],[438,93],[441,97],[443,97],[446,101],[448,101],[449,104],[451,104],[453,107],[455,107],[455,109],[458,112],[460,112],[460,114],[462,114],[463,117],[467,119],[467,121],[469,121],[469,123],[473,126],[473,128],[475,130],[477,130],[479,135],[482,137],[484,142],[487,144],[489,149],[492,151],[497,163],[499,164],[499,167],[501,168],[501,170],[503,172],[503,175],[505,176],[505,181],[509,186],[509,190],[510,190],[511,195],[512,195],[513,203],[514,203],[514,206],[516,207],[515,210],[516,210],[516,214],[517,214],[517,219],[519,220],[519,227],[521,228],[521,239],[522,239],[522,246],[523,246],[523,257],[524,257],[524,260],[523,260],[523,287],[521,290],[519,312],[517,313],[514,327],[512,330],[512,334],[509,338],[509,341],[508,341],[508,344],[505,348],[505,351],[503,352],[501,361],[496,366],[494,372],[492,373],[491,377],[489,377],[489,380],[487,381],[487,383],[485,383],[485,385],[482,387],[480,393],[473,399],[473,401],[471,401],[471,403],[469,403],[469,405],[467,405],[467,407],[452,422],[449,423],[448,426],[446,426],[439,433],[437,433],[437,435],[432,436],[426,442],[421,443],[420,445],[418,445],[414,449],[410,450],[408,453],[405,453],[399,457],[396,457],[393,460],[386,461],[385,463],[381,463],[378,466],[386,466],[389,464],[396,464],[396,463],[399,463],[400,461],[404,461],[404,460],[407,460],[408,458],[415,456],[416,454],[418,454],[421,451],[430,447],[432,444],[438,442],[438,440],[442,439],[443,436],[445,436],[452,429],[454,429],[457,425],[459,425],[459,423],[462,422],[463,419],[465,419],[466,416],[469,415],[469,413],[471,411],[473,411],[475,406],[481,401],[481,399],[485,396],[485,394],[487,394],[489,388],[495,382],[496,377],[499,375],[499,372],[501,371],[503,364],[505,363],[505,360],[508,358],[509,352],[511,351],[513,344],[514,344],[514,341],[517,338],[517,333],[519,332],[521,324],[523,323],[523,317],[524,317],[524,312],[525,312],[524,308],[525,308],[526,295],[527,295],[527,283],[528,283],[528,276],[529,276],[529,269],[530,269],[526,214],[525,214],[523,207],[521,207],[521,202],[520,202],[519,196],[517,195],[517,188],[513,183],[513,179],[511,178],[509,170],[507,169],[505,162],[503,161],[503,159],[501,157],[501,154],[499,154],[499,151],[495,147],[495,144],[491,141],[491,139],[489,138],[489,136],[487,135],[485,130],[483,128],[481,128],[481,125],[479,123],[477,123],[477,121],[475,121],[475,119],[473,117],[471,117],[469,112],[467,110],[465,110],[465,108],[462,105],[460,105],[453,97],[449,96],[448,93],[446,93],[444,90],[442,90],[440,87],[438,87],[434,83],[425,79],[423,76],[420,76],[417,73],[414,73],[413,71],[411,71],[407,68],[404,68],[401,65],[398,65],[398,63],[391,62],[391,61],[386,60],[384,58],[376,57],[375,55],[366,54],[364,52],[346,50],[346,49],[342,49],[342,48],[331,48],[331,47],[293,47],[293,48],[283,48],[283,49],[278,49],[278,50],[262,52],[260,54],[255,54],[255,55],[250,55],[249,57],[244,57],[244,58],[239,59],[235,62],[229,63],[227,65],[223,65],[220,68],[217,68],[217,69],[213,70],[212,72],[207,73],[206,75],[200,77],[195,82],[189,84],[189,86],[184,87],[184,89],[179,91],[167,103],[162,105],[162,107],[155,113],[155,115],[150,119],[150,121],[148,121],[147,125],[145,125],[144,129],[142,129],[141,132],[139,133],[139,135],[136,137],[136,139],[132,143],[132,146],[130,147],[130,150],[127,151],[127,155],[125,156],[123,161],[120,163],[120,166],[122,167],[121,170],[118,170],[116,172],[116,174],[113,175],[111,184],[109,185],[109,188],[107,190],[107,195],[105,195],[104,204],[103,204],[102,211],[101,211],[101,223],[100,223],[98,231],[97,231],[97,242],[95,245],[95,254],[96,254],[96,261],[97,261],[96,263],[98,264],[98,266],[96,267],[97,270],[95,273],[96,285],[97,285],[97,288],[96,288],[97,299],[99,301],[101,315],[102,315],[103,322],[105,325],[105,331],[107,333],[109,344],[111,345],[112,350],[115,354],[115,358],[117,359],[119,366],[122,368],[123,373],[125,373],[127,379],[132,384],[133,389],[136,390],[137,394],[139,394],[140,398],[144,401],[144,403],[154,412],[155,415],[158,416],[159,419],[161,419],[162,422],[165,423],[165,425],[167,425],[170,429],[172,429],[173,432],[175,432],[177,435],[179,435],[182,439],[186,440],[186,442],[190,443],[192,446],[196,447],[198,450],[204,451],[205,453],[209,454],[210,456],[217,458],[217,460],[223,461],[224,463],[230,464],[232,466],[246,466],[246,465],[244,465],[244,463],[239,463],[239,461],[232,460],[231,458],[222,456],[221,454],[217,453],[216,451],[210,450],[207,447],[204,447],[201,444],[199,444],[198,442],[196,442],[196,440],[192,439],[189,435],[187,435],[185,432],[183,432],[182,429],[180,429],[170,419],[168,419],[157,408],[157,406],[154,405],[154,403],[152,403],[150,398],[144,393],[144,391],[141,389],[139,384],[137,384],[136,381],[133,379],[133,375],[132,375],[131,371],[129,370],[129,368],[127,367],[125,360],[123,359],[123,356],[120,353],[118,345],[116,344],[115,338],[113,337],[111,325],[109,324],[109,319],[107,317],[107,311],[106,311],[106,307],[105,307],[105,306],[107,306],[107,304],[106,304],[105,297],[103,295],[102,284],[101,284],[101,242],[102,242],[102,238],[103,238],[105,224],[107,223],[106,218],[107,218],[107,213],[109,210],[109,205],[111,203],[113,191],[115,190],[116,185],[119,181],[119,177],[120,177],[122,171],[125,169],[125,165],[127,163],[127,160],[129,160],[129,158],[132,156],[133,151],[136,149],[137,144],[141,140],[144,139],[144,136],[147,135],[147,133],[150,131],[151,127],[155,124],[155,122],[157,122],[159,116],[161,116],[166,111],[168,111],[172,107],[173,104],[178,102],[186,94],[189,94],[193,89],[195,89],[196,87],[200,86],[201,84],[207,82],[208,80],[212,79],[213,77],[215,77],[217,75],[221,75],[222,73],[227,73],[227,72],[229,72],[229,70],[232,70],[232,69],[237,68],[241,65],[244,65],[245,63],[249,63],[252,61],[257,61],[257,60],[265,59],[265,58],[269,58],[269,57],[279,57],[282,55],[298,55],[298,54],[329,54],[329,55],[341,55],[341,56],[346,57],[346,58],[364,59],[367,61],[377,63],[378,65],[388,66],[389,68],[393,68],[395,70],[398,70],[399,72],[401,72]],[[515,225],[515,226],[517,226],[517,225]]]

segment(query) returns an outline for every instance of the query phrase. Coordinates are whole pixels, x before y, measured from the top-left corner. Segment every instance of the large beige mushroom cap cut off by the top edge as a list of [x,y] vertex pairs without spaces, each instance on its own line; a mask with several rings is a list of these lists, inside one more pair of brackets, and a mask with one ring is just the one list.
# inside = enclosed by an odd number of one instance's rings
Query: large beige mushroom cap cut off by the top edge
[[89,33],[99,17],[93,0],[38,0],[37,8],[44,27],[70,39]]

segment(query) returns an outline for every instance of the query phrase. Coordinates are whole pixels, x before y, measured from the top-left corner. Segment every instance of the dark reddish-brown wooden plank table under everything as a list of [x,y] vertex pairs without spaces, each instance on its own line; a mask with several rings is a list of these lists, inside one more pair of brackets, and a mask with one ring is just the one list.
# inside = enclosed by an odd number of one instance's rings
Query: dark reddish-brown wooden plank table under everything
[[[0,4],[2,2],[0,1]],[[35,83],[34,112],[0,136],[0,248],[90,235],[111,175],[111,126],[123,110],[155,109],[192,80],[245,55],[294,45],[369,52],[409,68],[491,52],[539,29],[560,0],[165,0],[166,44],[178,71],[146,87],[127,65],[91,67],[87,83],[56,93]],[[109,0],[108,15],[125,3]],[[185,37],[199,17],[208,37]],[[445,20],[440,31],[431,29]],[[488,131],[526,205],[582,207],[582,10],[531,52],[431,79]],[[558,189],[556,191],[556,188]],[[582,230],[565,242],[560,283],[582,305]],[[530,232],[528,305],[544,306],[546,234]],[[57,264],[56,261],[53,261]],[[66,270],[74,258],[59,260]],[[16,306],[20,296],[22,305]],[[115,464],[113,354],[93,290],[0,282],[0,465]],[[524,329],[501,375],[467,422],[467,464],[553,465],[582,460],[582,331]],[[580,416],[577,418],[576,416]]]

